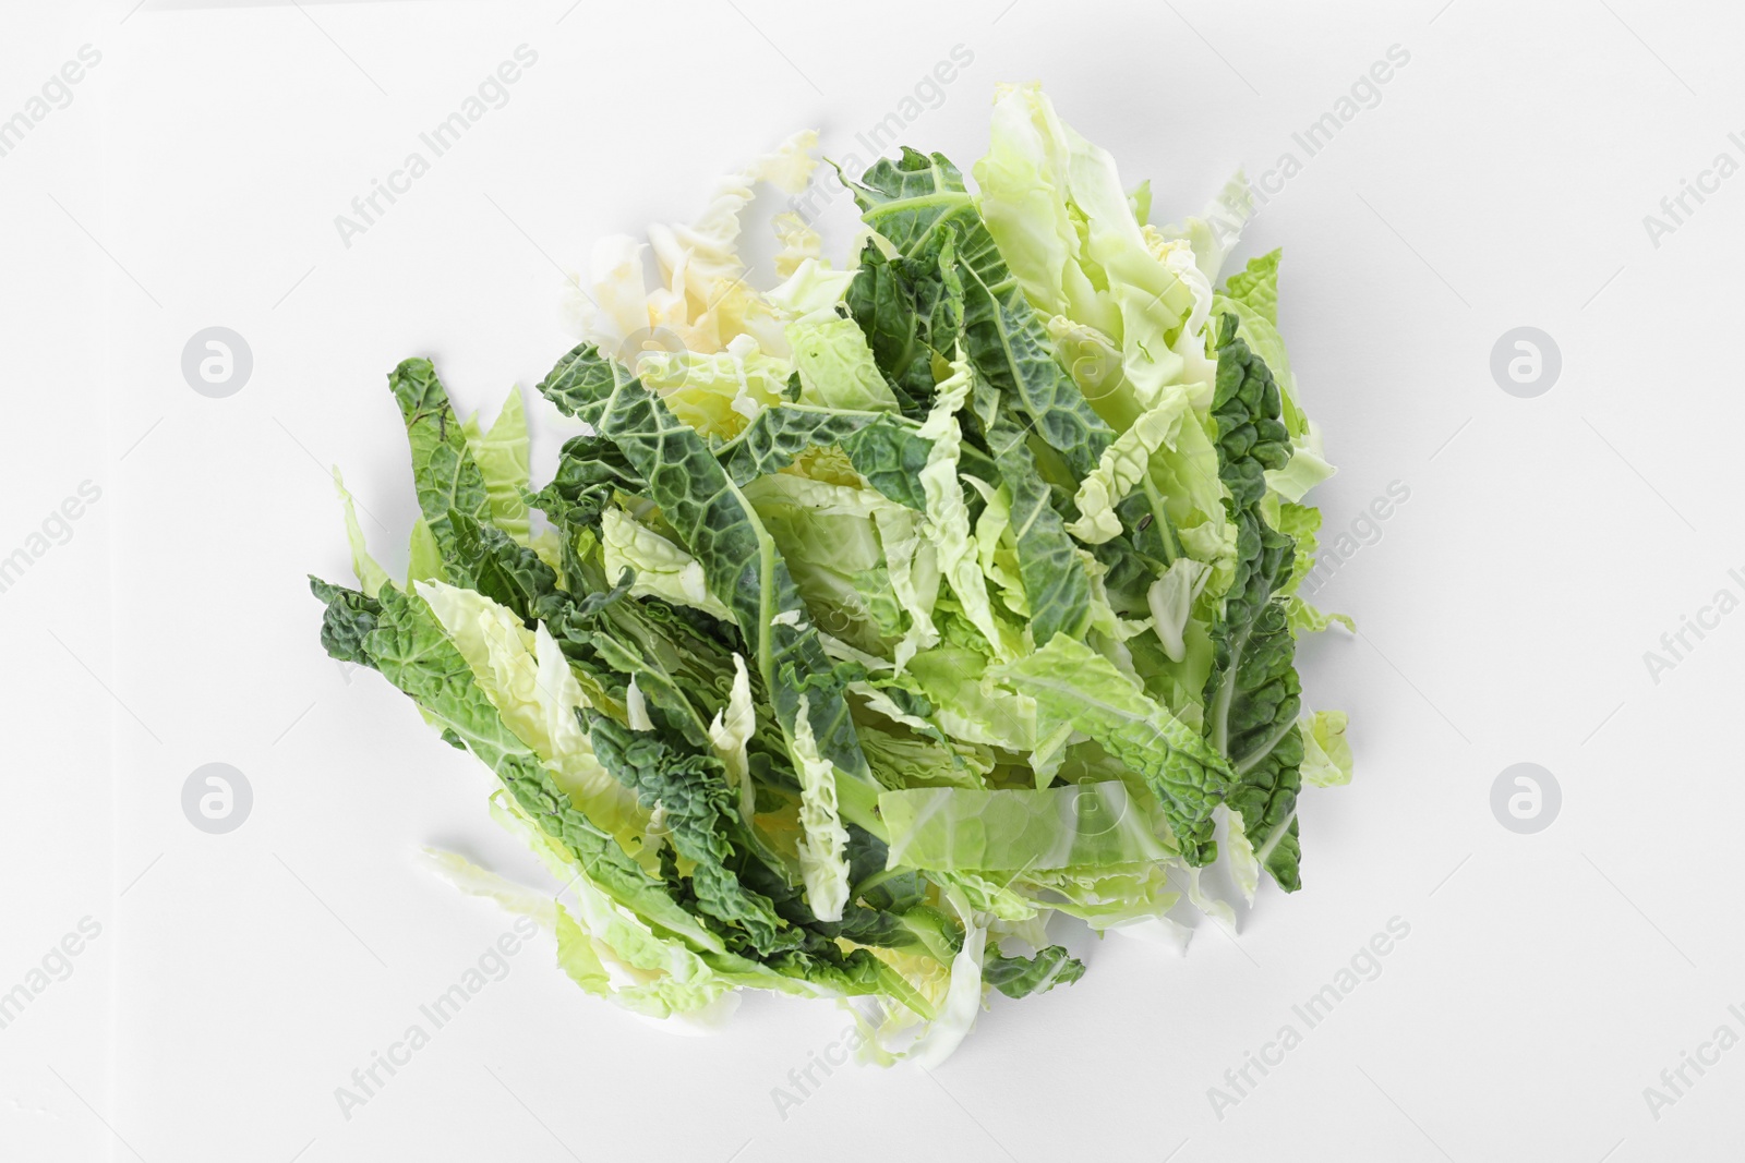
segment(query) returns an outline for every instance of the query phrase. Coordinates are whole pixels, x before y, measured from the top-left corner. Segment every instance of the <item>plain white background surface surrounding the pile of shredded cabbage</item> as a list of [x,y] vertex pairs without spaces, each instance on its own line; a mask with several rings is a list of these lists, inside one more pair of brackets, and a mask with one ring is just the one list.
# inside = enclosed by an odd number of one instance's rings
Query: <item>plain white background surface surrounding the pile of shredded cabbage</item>
[[[1644,664],[1745,595],[1745,178],[1659,246],[1642,223],[1715,153],[1745,160],[1733,5],[14,2],[0,119],[86,44],[72,103],[0,157],[0,554],[101,488],[0,593],[0,990],[82,917],[101,936],[0,1029],[0,1158],[1738,1158],[1745,1051],[1659,1118],[1642,1093],[1745,1032],[1745,616],[1659,682]],[[522,44],[510,103],[347,248],[335,214]],[[487,772],[316,643],[304,575],[346,575],[328,466],[403,565],[396,361],[494,410],[567,347],[555,303],[597,235],[695,214],[803,126],[866,160],[855,133],[960,44],[974,63],[907,141],[967,167],[993,84],[1042,78],[1152,178],[1157,221],[1302,157],[1293,131],[1410,52],[1241,251],[1286,246],[1283,331],[1342,469],[1328,530],[1410,490],[1319,595],[1361,636],[1302,652],[1358,755],[1304,799],[1305,888],[1185,957],[1063,926],[1080,983],[995,1004],[934,1074],[838,1071],[785,1118],[771,1092],[838,1011],[752,999],[679,1039],[536,943],[344,1118],[335,1086],[506,928],[417,847],[525,863]],[[848,201],[831,214],[843,237]],[[213,324],[255,359],[227,399],[180,370]],[[1488,370],[1522,324],[1564,357],[1536,399]],[[181,813],[206,762],[253,786],[229,835]],[[1562,785],[1537,835],[1490,811],[1515,762]],[[1410,936],[1382,973],[1220,1118],[1208,1090],[1304,1030],[1293,1003],[1391,917]]]

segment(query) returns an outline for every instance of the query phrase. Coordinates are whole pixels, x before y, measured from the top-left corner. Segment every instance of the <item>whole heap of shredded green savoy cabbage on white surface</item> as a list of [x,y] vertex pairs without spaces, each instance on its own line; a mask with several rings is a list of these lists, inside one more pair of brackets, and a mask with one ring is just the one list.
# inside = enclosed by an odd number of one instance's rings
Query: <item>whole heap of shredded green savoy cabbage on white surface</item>
[[850,999],[862,1057],[932,1065],[991,990],[1084,975],[1056,914],[1234,924],[1215,861],[1249,901],[1262,868],[1300,886],[1302,788],[1352,776],[1295,670],[1297,635],[1351,624],[1298,593],[1331,466],[1279,253],[1213,289],[1239,180],[1152,227],[1148,183],[1002,87],[975,190],[906,148],[845,178],[843,269],[778,214],[756,288],[740,218],[813,145],[651,227],[658,288],[602,242],[539,384],[581,429],[550,479],[518,389],[487,427],[431,361],[394,368],[405,582],[335,473],[358,584],[311,589],[323,649],[478,757],[553,884],[433,868],[586,994],[679,1022],[738,989]]

